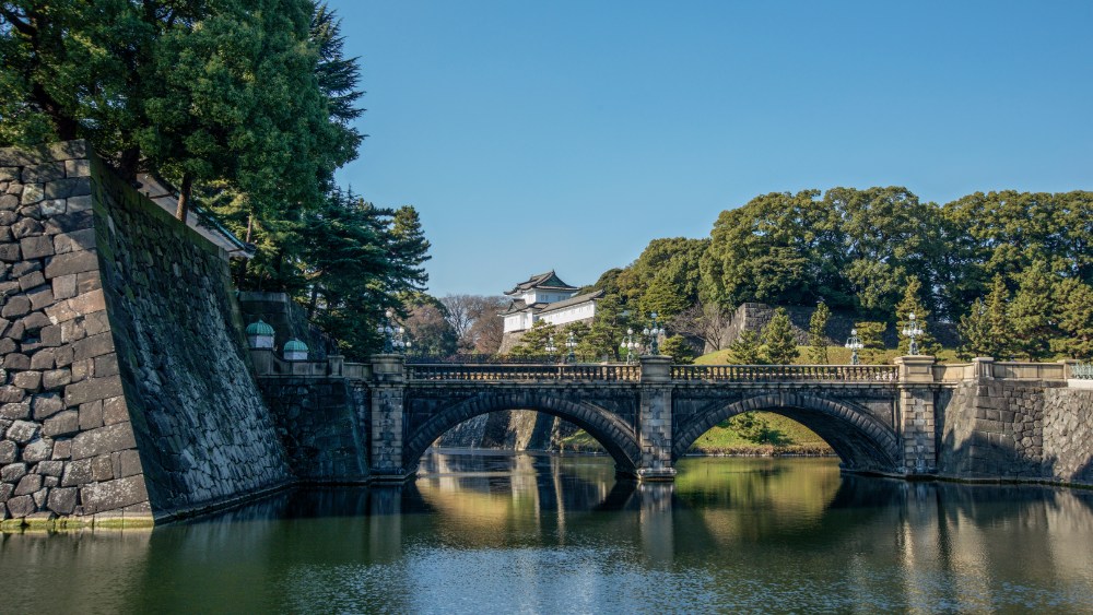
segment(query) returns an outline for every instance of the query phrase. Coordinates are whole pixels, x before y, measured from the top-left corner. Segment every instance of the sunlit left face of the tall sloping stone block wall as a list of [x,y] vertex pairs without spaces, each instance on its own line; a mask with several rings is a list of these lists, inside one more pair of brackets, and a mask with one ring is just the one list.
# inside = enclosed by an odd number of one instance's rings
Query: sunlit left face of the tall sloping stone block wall
[[0,520],[146,523],[84,144],[0,150]]

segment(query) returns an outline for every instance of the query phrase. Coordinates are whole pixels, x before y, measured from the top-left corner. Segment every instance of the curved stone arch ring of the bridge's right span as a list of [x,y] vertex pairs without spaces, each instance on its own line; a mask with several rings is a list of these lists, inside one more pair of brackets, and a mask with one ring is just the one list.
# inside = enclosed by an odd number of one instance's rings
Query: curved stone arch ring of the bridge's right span
[[835,450],[846,470],[893,473],[903,465],[896,435],[865,410],[845,402],[790,392],[718,405],[686,425],[680,425],[673,438],[672,459],[683,457],[700,436],[721,421],[760,410],[792,418],[815,431]]

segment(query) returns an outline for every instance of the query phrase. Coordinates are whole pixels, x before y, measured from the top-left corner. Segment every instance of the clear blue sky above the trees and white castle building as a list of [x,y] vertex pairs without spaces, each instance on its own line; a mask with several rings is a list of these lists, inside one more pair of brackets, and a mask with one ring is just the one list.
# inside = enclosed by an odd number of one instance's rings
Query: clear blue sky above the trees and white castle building
[[1093,189],[1093,2],[330,2],[430,292],[581,285],[766,192]]

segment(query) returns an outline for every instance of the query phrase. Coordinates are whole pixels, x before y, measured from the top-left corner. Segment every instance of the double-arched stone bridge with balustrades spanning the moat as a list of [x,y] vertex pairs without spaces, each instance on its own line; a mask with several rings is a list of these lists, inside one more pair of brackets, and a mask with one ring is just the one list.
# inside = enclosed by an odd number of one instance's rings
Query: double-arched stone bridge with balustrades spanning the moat
[[[378,482],[413,476],[421,456],[445,431],[503,410],[534,410],[574,423],[603,446],[620,473],[644,481],[672,480],[675,461],[706,430],[760,410],[815,431],[846,471],[932,475],[945,446],[944,409],[960,383],[998,376],[1066,387],[1068,369],[1061,363],[992,359],[941,365],[928,356],[901,357],[891,366],[694,366],[671,365],[662,356],[633,365],[407,365],[398,355],[346,364],[337,356],[284,362],[269,350],[251,352],[274,414],[285,415],[286,395],[297,400],[292,416],[321,410],[325,402],[312,387],[344,385],[331,399],[354,409],[355,426],[331,421],[342,426],[339,431],[309,446],[313,456],[331,446],[344,452],[340,460],[325,459],[315,473],[338,474],[340,466],[346,481]],[[290,421],[283,429],[296,431],[295,425]],[[992,446],[989,437],[984,440]]]

